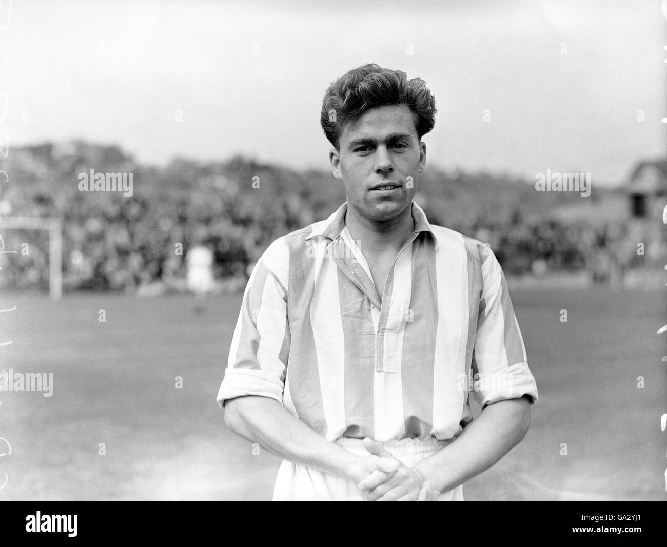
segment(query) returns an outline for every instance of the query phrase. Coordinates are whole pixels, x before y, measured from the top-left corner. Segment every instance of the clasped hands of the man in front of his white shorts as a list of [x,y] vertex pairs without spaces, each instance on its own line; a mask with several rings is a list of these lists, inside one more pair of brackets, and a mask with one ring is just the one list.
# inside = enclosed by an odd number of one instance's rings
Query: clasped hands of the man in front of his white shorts
[[434,501],[440,492],[430,486],[424,473],[408,467],[370,437],[364,438],[368,456],[361,456],[352,478],[368,501]]

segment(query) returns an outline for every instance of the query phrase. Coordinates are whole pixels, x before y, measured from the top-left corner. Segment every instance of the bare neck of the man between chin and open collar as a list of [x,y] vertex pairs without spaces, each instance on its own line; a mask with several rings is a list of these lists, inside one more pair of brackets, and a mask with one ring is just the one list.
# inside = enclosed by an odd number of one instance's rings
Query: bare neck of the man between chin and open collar
[[398,253],[414,231],[412,203],[397,217],[376,221],[364,217],[348,201],[345,225],[362,251]]

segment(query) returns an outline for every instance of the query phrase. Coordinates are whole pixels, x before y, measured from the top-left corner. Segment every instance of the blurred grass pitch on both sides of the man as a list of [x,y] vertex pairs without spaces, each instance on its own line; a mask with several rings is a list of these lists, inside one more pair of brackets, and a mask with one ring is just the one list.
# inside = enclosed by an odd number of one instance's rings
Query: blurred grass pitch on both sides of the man
[[[0,343],[13,342],[0,370],[52,372],[53,396],[0,392],[12,448],[0,500],[270,499],[279,459],[229,432],[215,402],[240,295],[211,298],[203,314],[185,295],[2,300],[17,310],[0,314]],[[540,401],[524,441],[468,482],[466,499],[666,500],[664,291],[512,300]]]

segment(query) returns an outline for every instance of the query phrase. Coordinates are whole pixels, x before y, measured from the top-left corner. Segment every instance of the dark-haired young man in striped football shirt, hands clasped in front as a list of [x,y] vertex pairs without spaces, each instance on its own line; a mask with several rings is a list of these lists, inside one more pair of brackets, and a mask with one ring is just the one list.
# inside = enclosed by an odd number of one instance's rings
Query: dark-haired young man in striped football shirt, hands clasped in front
[[412,201],[435,113],[424,81],[378,65],[324,97],[348,200],[258,261],[217,395],[284,458],[274,500],[462,500],[528,430],[538,393],[498,260]]

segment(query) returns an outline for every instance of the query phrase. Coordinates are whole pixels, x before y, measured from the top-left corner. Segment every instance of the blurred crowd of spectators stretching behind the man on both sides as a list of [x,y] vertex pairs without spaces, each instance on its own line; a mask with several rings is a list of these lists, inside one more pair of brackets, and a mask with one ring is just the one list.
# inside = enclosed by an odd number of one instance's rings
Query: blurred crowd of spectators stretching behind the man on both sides
[[[213,251],[219,288],[237,290],[273,239],[319,219],[313,205],[300,195],[217,191],[148,199],[101,193],[75,194],[74,199],[65,211],[55,210],[52,201],[37,199],[38,215],[63,218],[65,290],[183,290],[185,255],[193,245]],[[516,214],[506,222],[472,217],[448,227],[488,242],[508,275],[588,269],[594,281],[604,281],[611,267],[640,266],[646,255],[638,253],[638,239],[626,222],[566,225]],[[5,285],[47,286],[46,233],[13,231],[5,241],[33,242],[30,259],[19,259],[20,267],[3,270]]]

